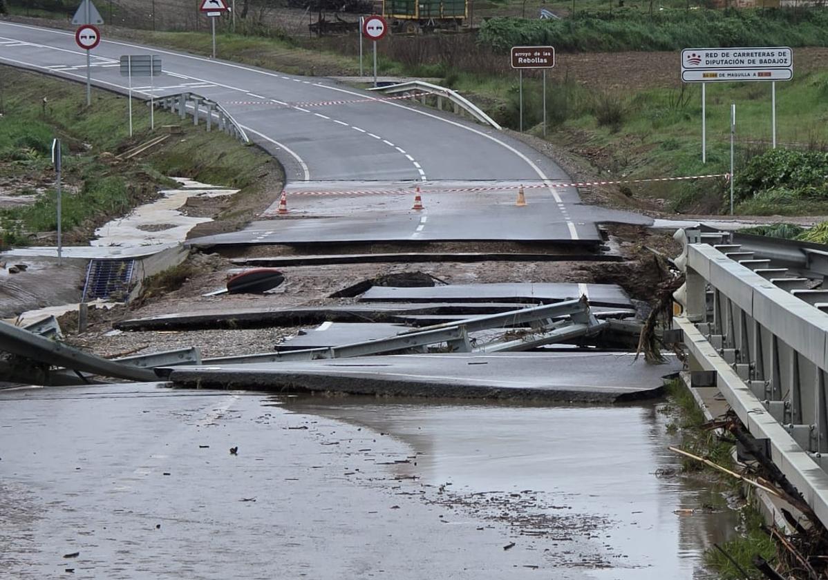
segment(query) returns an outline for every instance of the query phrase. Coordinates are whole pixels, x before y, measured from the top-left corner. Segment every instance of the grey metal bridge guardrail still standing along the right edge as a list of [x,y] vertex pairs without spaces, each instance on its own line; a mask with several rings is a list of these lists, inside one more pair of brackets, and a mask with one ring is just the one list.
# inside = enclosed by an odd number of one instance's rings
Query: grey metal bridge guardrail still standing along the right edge
[[828,524],[828,290],[821,276],[787,271],[727,233],[688,229],[676,237],[685,244],[676,266],[686,283],[674,295],[684,312],[673,321],[691,371],[715,373],[715,386],[759,447]]

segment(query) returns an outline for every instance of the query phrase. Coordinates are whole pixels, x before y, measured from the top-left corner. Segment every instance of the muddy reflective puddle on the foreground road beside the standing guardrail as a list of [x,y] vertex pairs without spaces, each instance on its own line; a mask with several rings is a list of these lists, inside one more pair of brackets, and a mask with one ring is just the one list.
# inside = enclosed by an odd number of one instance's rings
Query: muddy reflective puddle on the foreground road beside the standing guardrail
[[[320,401],[286,408],[401,439],[409,463],[389,466],[435,489],[432,501],[504,520],[585,578],[717,578],[703,552],[739,515],[709,483],[675,475],[670,419],[659,405],[548,407]],[[416,455],[416,458],[414,458]],[[667,474],[667,477],[665,477]]]

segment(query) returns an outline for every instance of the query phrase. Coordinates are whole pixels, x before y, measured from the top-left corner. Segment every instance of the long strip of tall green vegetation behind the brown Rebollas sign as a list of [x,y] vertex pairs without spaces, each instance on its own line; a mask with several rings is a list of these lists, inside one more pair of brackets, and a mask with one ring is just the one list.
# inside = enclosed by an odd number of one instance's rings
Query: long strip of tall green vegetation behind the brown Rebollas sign
[[561,51],[681,50],[688,46],[828,46],[828,11],[632,9],[576,12],[561,20],[492,18],[479,41],[499,52],[550,45]]

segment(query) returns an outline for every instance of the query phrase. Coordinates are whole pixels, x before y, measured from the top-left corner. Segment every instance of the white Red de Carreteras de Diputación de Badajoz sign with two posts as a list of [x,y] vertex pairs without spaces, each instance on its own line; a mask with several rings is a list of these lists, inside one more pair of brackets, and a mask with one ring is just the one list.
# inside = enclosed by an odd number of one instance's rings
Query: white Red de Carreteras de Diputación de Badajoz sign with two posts
[[686,48],[681,50],[681,80],[701,83],[701,162],[707,162],[707,83],[771,81],[771,125],[776,149],[776,81],[793,78],[793,50],[757,48]]

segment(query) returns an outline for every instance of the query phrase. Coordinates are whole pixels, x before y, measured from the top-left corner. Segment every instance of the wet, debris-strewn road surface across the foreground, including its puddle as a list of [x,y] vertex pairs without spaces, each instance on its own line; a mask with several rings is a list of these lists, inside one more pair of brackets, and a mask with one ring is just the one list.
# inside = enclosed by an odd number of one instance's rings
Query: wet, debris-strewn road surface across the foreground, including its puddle
[[712,499],[655,477],[676,466],[664,421],[652,405],[277,400],[154,384],[0,391],[0,569],[705,578],[701,547],[736,522],[673,513]]

